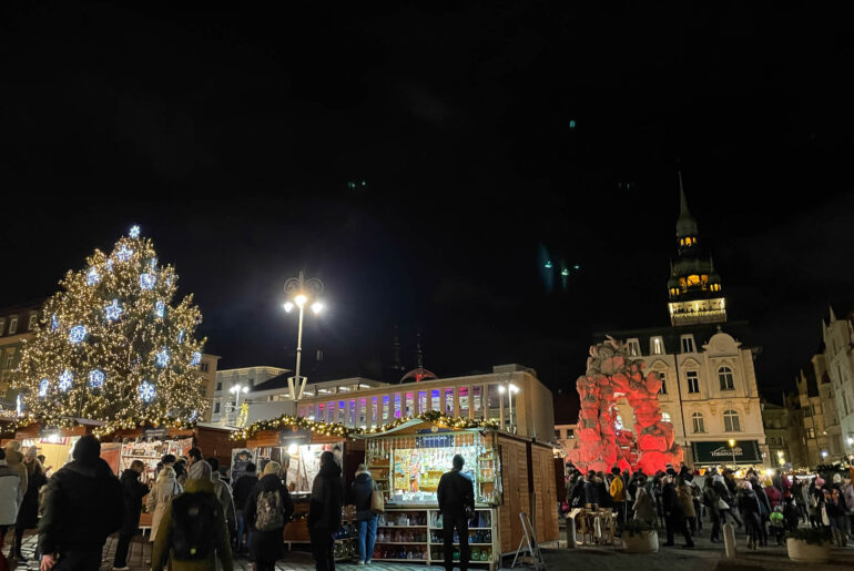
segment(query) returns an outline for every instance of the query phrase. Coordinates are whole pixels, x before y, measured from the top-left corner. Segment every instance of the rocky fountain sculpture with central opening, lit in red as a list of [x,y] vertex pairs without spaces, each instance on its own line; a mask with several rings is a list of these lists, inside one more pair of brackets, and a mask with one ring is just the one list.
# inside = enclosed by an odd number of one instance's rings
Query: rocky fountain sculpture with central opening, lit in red
[[[644,363],[630,359],[626,345],[608,341],[590,347],[587,374],[576,381],[581,397],[572,463],[583,470],[608,472],[642,468],[648,475],[668,463],[679,466],[682,448],[673,442],[673,425],[661,420],[658,373],[643,376]],[[634,410],[634,432],[618,429],[617,401],[626,398]]]

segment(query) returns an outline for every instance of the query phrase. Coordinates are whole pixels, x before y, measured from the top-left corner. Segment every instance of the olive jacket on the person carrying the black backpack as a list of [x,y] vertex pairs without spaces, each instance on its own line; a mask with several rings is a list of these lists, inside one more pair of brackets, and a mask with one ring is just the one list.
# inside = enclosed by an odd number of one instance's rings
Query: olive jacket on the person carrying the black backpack
[[[175,496],[173,499],[184,497],[185,499],[197,499],[203,501],[205,500],[205,498],[202,497],[204,494],[207,494],[218,504],[218,500],[215,499],[214,485],[212,481],[206,479],[187,479],[183,493]],[[194,498],[194,496],[197,496],[199,498]],[[216,569],[217,555],[222,563],[223,571],[233,571],[232,548],[228,542],[228,530],[225,529],[225,514],[222,510],[218,510],[216,521],[212,522],[215,534],[214,551],[206,558],[197,561],[182,561],[173,557],[173,528],[175,523],[172,506],[173,502],[166,503],[166,508],[163,510],[163,517],[160,521],[160,528],[157,529],[157,536],[154,538],[154,545],[152,547],[151,552],[152,571],[162,571],[167,561],[170,571],[212,571]]]

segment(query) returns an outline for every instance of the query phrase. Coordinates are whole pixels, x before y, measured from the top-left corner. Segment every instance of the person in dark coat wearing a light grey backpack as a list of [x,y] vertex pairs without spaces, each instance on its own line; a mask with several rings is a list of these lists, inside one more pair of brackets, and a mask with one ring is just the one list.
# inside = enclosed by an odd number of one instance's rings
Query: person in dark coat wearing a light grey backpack
[[[248,468],[248,467],[247,467]],[[252,467],[254,472],[255,467]],[[284,530],[294,514],[294,502],[287,488],[282,483],[282,467],[278,462],[267,462],[262,478],[245,500],[244,519],[248,533],[250,558],[255,562],[255,571],[273,571],[276,561],[284,557]],[[243,476],[237,480],[240,486]],[[235,487],[236,487],[235,486]]]

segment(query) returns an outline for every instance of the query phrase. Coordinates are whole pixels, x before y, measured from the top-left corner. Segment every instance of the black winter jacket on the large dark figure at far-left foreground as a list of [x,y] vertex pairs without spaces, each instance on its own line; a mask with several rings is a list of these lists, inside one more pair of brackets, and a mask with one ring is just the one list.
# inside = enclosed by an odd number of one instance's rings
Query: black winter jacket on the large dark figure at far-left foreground
[[42,553],[100,550],[124,517],[122,485],[110,465],[71,461],[48,481],[39,522]]

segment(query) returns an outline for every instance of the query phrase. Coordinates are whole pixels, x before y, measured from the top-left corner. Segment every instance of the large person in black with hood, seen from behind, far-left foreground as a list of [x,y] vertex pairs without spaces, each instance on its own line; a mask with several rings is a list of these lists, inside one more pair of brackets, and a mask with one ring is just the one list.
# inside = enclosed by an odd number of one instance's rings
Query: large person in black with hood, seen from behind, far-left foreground
[[80,437],[73,460],[51,476],[39,522],[41,571],[100,569],[106,538],[124,519],[122,485],[94,436]]

